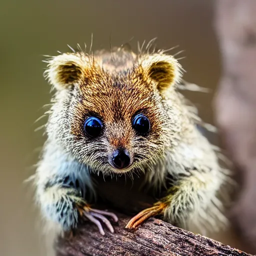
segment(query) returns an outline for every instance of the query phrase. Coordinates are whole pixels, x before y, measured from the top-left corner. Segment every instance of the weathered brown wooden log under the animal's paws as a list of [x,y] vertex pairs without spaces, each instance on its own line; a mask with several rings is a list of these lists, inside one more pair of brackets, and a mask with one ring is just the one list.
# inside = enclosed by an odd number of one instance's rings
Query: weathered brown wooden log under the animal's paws
[[70,238],[56,243],[57,256],[248,256],[245,252],[223,245],[199,234],[193,234],[160,219],[150,218],[136,230],[124,228],[129,217],[118,214],[115,232],[102,236],[95,225],[84,223]]

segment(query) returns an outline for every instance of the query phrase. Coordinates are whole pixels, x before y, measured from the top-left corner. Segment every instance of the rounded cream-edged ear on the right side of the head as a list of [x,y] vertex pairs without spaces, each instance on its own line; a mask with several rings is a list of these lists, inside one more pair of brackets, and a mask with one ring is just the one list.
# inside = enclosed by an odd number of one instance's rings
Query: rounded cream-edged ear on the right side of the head
[[181,65],[171,55],[146,55],[140,60],[140,65],[145,74],[157,83],[160,91],[178,83],[182,76]]

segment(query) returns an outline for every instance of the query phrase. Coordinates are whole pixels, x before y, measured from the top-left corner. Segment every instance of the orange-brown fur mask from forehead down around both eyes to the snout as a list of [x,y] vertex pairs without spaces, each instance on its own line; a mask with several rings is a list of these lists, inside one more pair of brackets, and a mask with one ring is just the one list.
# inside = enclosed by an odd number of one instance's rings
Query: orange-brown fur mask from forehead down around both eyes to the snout
[[[78,97],[74,95],[72,133],[82,136],[84,120],[89,116],[98,116],[105,124],[109,142],[113,145],[122,142],[127,146],[134,133],[132,117],[143,113],[150,121],[150,138],[157,139],[165,113],[161,97],[152,82],[135,66],[124,67],[117,72],[92,66],[79,85]],[[117,137],[121,137],[121,141],[112,141]]]

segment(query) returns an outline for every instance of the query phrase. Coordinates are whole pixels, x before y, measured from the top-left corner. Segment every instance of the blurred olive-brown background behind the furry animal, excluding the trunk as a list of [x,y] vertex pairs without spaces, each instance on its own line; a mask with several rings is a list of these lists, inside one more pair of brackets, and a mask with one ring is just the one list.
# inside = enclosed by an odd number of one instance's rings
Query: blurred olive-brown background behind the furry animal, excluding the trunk
[[[31,189],[22,181],[33,174],[43,122],[34,121],[49,102],[42,77],[43,54],[69,51],[66,44],[109,48],[157,37],[157,46],[185,51],[179,56],[185,79],[215,89],[220,56],[213,30],[213,0],[44,0],[0,2],[0,255],[45,255]],[[200,116],[212,122],[213,94],[191,93]],[[45,119],[43,120],[45,121]],[[215,139],[216,142],[216,139]],[[212,234],[246,250],[232,230]]]

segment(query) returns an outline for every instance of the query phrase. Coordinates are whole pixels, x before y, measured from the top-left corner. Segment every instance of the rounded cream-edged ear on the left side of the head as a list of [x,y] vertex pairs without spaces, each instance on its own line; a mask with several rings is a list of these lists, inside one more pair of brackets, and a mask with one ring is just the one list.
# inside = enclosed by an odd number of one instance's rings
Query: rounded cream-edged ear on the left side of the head
[[44,76],[56,89],[64,89],[84,80],[88,57],[83,53],[63,53],[47,60]]

